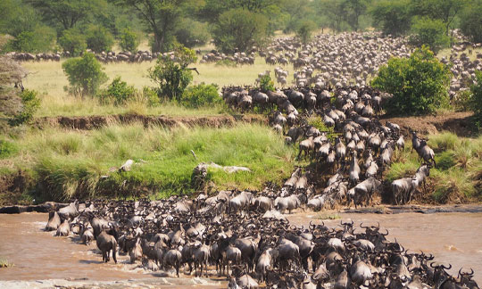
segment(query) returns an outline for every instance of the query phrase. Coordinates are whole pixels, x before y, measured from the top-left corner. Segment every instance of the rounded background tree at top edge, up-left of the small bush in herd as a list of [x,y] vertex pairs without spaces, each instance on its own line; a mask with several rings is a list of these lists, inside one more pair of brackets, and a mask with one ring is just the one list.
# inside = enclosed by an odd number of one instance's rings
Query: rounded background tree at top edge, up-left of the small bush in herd
[[410,0],[378,2],[371,9],[371,16],[375,27],[385,35],[403,35],[410,29]]

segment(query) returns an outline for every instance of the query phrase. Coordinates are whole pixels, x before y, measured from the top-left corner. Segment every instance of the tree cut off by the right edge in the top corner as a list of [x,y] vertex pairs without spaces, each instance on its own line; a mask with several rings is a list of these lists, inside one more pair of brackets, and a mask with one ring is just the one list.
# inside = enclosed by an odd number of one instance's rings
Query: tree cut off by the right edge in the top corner
[[461,31],[475,43],[482,42],[482,2],[467,6],[461,13]]

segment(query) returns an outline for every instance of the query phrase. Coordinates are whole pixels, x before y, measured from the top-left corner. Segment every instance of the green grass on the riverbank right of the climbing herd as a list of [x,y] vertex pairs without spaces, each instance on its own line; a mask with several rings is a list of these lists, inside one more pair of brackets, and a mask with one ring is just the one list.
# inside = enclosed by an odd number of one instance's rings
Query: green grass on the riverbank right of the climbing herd
[[[482,200],[482,136],[467,138],[443,132],[428,136],[428,145],[436,153],[436,168],[430,169],[435,202]],[[389,182],[412,176],[420,167],[417,153],[405,148],[386,173]]]

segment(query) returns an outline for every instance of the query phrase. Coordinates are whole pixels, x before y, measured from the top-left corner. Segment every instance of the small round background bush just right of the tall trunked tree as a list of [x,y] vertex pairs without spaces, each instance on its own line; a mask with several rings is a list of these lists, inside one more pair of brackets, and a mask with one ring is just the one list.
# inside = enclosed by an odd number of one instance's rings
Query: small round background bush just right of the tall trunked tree
[[189,48],[205,45],[211,38],[205,23],[190,19],[179,23],[175,36],[180,44]]

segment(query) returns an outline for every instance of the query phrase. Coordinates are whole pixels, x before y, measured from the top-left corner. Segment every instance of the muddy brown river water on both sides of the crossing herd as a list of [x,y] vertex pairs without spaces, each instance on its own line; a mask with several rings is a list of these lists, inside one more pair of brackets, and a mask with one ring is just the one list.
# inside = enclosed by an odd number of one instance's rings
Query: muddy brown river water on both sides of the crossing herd
[[[388,229],[388,238],[394,240],[396,237],[405,249],[433,253],[436,261],[453,265],[451,273],[454,275],[461,267],[473,268],[474,279],[482,284],[482,213],[338,216],[344,221],[353,219],[356,226],[361,222],[370,225],[379,222],[380,227]],[[320,223],[318,217],[315,212],[299,212],[288,216],[288,219],[295,225],[306,226],[311,220]],[[80,244],[76,237],[55,237],[54,232],[44,232],[47,219],[48,215],[44,213],[0,214],[0,258],[14,264],[12,268],[0,268],[0,281],[82,278],[109,281],[172,277],[137,268],[136,264],[129,264],[129,256],[118,257],[117,265],[112,261],[104,264],[95,243],[86,246]],[[340,219],[324,222],[328,227],[337,227]],[[219,281],[217,278],[201,280],[195,287],[226,287],[225,282]],[[187,287],[187,284],[178,287]]]

